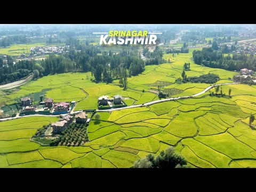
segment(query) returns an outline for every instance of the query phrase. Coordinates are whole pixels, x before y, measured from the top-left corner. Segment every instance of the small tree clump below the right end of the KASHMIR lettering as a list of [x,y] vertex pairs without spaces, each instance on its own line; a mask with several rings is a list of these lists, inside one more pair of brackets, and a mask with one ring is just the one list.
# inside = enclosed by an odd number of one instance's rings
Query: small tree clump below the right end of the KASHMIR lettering
[[149,52],[148,49],[144,49],[143,53],[146,52],[145,57],[148,58],[145,62],[145,65],[159,65],[165,62],[163,59],[163,51],[156,46],[153,52]]

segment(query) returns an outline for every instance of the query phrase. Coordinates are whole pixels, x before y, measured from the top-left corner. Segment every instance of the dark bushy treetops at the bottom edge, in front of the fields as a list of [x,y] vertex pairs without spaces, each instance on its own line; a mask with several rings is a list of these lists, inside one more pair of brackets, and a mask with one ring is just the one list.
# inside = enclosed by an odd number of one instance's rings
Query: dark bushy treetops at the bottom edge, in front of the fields
[[134,168],[186,168],[187,160],[180,154],[175,153],[172,146],[154,157],[152,154],[139,159],[134,163]]

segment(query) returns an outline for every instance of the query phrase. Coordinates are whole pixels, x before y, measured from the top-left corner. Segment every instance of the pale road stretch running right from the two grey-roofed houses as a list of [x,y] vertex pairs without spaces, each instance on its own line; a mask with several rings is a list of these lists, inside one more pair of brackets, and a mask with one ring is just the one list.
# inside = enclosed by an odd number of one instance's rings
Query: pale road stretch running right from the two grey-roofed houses
[[[221,83],[221,84],[217,84],[217,85],[230,85],[230,84],[238,84],[238,83]],[[183,97],[176,97],[176,98],[167,98],[167,99],[162,99],[162,100],[156,100],[156,101],[151,101],[151,102],[143,103],[141,105],[122,107],[122,108],[116,108],[116,109],[96,110],[96,111],[104,112],[104,111],[115,111],[115,110],[122,110],[122,109],[130,109],[130,108],[136,108],[136,107],[142,107],[142,106],[149,106],[149,105],[153,105],[155,103],[160,103],[160,102],[165,102],[165,101],[193,98],[193,97],[196,97],[198,95],[201,95],[201,94],[205,93],[206,91],[212,89],[212,87],[215,87],[217,85],[211,85],[211,86],[207,87],[204,91],[201,91],[199,93],[196,93],[196,94],[190,95],[190,96],[183,96]]]

